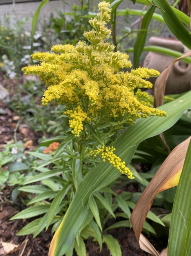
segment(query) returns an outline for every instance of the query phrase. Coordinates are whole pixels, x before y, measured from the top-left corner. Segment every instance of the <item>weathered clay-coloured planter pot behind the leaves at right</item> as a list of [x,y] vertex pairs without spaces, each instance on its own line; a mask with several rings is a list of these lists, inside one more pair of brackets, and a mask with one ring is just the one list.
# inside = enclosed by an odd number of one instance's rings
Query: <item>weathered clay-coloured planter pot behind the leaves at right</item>
[[[171,50],[185,53],[187,48],[176,39],[166,39],[161,37],[151,37],[149,39],[150,45],[162,46]],[[159,54],[155,52],[149,52],[144,60],[143,66],[149,69],[156,69],[162,72],[168,67],[175,58]],[[149,81],[155,83],[156,78],[151,78]],[[165,94],[184,93],[191,89],[191,65],[184,61],[177,61],[167,79]]]

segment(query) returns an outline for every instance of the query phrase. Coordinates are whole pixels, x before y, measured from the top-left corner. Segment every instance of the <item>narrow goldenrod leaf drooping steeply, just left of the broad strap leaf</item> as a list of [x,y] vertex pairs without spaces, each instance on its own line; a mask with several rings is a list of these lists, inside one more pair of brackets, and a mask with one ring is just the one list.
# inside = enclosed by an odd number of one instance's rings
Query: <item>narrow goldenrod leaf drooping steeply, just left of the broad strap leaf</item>
[[69,191],[69,189],[71,188],[71,185],[66,185],[65,187],[63,187],[62,190],[60,190],[57,195],[55,196],[53,202],[51,203],[49,212],[48,212],[48,217],[47,217],[47,225],[46,225],[46,229],[49,227],[49,225],[51,224],[51,221],[53,220],[53,218],[56,215],[56,211],[59,208],[62,200],[64,199],[65,195],[67,194],[67,192]]

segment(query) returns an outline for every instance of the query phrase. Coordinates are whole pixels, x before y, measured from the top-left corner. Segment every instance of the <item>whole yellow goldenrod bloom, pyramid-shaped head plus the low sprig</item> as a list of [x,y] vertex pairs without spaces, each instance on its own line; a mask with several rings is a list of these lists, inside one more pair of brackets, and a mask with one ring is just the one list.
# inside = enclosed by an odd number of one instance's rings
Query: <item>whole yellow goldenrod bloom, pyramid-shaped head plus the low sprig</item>
[[[73,45],[55,45],[53,53],[38,52],[32,55],[40,65],[25,67],[27,75],[37,75],[48,86],[42,98],[42,105],[51,100],[65,106],[64,114],[69,117],[72,134],[80,137],[85,123],[109,122],[117,119],[121,123],[135,123],[148,116],[165,116],[166,112],[152,108],[153,98],[140,89],[151,88],[145,80],[158,76],[154,69],[131,69],[128,55],[114,52],[115,46],[104,41],[111,34],[106,24],[111,18],[109,2],[100,2],[97,18],[89,20],[93,30],[84,33],[88,41]],[[125,70],[122,70],[125,69]],[[114,148],[101,153],[122,173],[133,178],[124,162],[113,154]],[[130,173],[129,173],[130,172]]]

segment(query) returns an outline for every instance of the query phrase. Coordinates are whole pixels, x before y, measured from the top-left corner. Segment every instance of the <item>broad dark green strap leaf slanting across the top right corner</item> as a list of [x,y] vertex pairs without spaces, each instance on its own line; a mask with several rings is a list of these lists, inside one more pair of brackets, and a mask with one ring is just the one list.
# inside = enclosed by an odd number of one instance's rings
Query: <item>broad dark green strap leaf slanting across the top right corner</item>
[[159,9],[159,12],[175,37],[186,45],[187,48],[191,49],[191,33],[176,16],[167,0],[154,0],[154,3],[164,9],[164,11]]

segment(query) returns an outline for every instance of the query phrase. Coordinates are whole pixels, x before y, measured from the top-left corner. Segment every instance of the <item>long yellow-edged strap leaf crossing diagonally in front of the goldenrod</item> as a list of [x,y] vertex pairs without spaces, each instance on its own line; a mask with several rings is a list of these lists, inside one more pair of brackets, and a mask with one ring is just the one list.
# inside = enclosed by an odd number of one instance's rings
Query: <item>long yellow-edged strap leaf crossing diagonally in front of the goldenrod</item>
[[[167,117],[149,117],[138,119],[135,125],[129,126],[114,143],[115,154],[126,164],[131,161],[138,144],[149,137],[164,132],[180,118],[182,113],[191,108],[191,91],[179,98],[160,106],[167,111]],[[78,193],[73,198],[62,223],[53,237],[49,256],[62,256],[72,246],[78,230],[82,227],[87,216],[88,202],[91,194],[107,186],[120,176],[109,162],[100,162],[93,167],[80,183]]]

